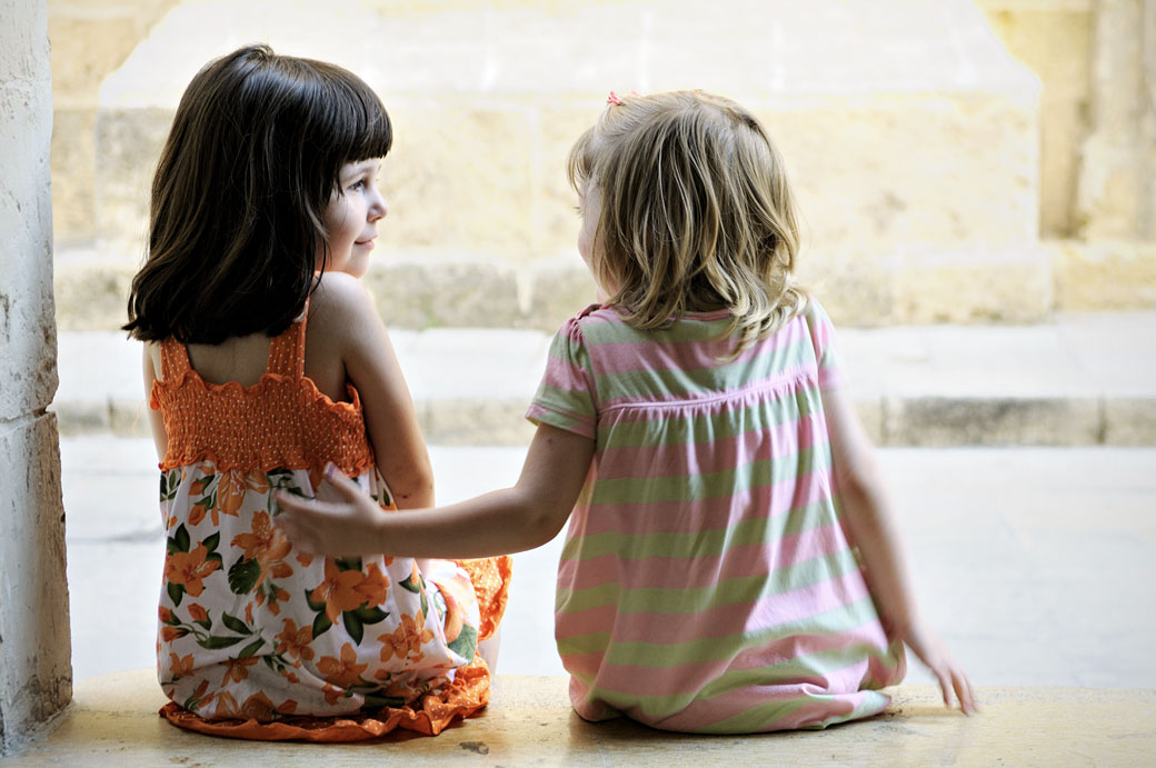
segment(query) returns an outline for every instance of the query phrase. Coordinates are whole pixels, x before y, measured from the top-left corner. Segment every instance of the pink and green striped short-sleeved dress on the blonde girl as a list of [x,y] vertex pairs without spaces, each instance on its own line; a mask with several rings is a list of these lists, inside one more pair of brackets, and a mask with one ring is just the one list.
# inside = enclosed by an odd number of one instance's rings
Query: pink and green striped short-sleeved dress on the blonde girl
[[880,712],[903,647],[839,524],[820,390],[838,378],[810,300],[727,360],[726,311],[639,331],[566,322],[527,418],[596,452],[558,564],[575,710],[710,733]]

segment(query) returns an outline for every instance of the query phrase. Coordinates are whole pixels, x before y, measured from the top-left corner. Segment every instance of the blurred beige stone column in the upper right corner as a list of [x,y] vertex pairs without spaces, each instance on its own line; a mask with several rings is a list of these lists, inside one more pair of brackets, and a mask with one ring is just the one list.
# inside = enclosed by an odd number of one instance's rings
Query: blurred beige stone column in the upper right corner
[[1085,238],[1153,238],[1156,0],[1097,0],[1091,134],[1076,199]]

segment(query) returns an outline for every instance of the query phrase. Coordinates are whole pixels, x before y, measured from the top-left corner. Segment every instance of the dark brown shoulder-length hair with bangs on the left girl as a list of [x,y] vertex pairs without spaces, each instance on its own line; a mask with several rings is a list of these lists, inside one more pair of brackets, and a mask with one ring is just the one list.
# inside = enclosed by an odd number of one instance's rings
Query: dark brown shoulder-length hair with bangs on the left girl
[[210,61],[161,153],[124,330],[197,344],[284,331],[327,256],[323,215],[341,167],[391,143],[381,101],[341,67],[266,45]]

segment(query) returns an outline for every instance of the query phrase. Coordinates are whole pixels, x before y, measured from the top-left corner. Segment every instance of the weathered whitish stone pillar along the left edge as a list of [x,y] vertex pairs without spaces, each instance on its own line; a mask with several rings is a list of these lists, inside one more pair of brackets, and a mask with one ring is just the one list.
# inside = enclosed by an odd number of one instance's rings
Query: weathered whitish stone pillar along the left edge
[[0,0],[0,751],[72,697],[44,0]]

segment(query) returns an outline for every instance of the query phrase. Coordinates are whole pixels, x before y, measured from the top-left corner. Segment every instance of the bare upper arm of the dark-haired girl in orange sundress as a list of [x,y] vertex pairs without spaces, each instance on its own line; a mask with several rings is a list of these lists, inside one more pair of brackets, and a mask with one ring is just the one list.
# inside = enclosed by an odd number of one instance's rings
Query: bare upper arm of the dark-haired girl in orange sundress
[[433,504],[433,470],[414,401],[390,334],[355,278],[326,273],[310,325],[318,344],[336,345],[362,399],[375,460],[399,509]]

